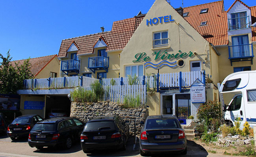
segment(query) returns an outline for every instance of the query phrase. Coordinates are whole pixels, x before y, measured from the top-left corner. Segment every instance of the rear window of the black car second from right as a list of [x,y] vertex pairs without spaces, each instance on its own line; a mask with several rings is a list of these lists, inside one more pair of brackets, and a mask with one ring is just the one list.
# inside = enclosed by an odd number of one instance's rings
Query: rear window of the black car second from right
[[87,122],[84,131],[115,130],[114,121]]

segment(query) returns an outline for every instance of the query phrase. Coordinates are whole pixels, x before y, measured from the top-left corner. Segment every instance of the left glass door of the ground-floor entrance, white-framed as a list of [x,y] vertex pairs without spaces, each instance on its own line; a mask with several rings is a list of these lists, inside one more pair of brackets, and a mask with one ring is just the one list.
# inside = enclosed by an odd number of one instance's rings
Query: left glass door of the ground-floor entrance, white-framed
[[162,95],[161,96],[161,114],[162,115],[173,115],[175,108],[173,108],[173,95]]

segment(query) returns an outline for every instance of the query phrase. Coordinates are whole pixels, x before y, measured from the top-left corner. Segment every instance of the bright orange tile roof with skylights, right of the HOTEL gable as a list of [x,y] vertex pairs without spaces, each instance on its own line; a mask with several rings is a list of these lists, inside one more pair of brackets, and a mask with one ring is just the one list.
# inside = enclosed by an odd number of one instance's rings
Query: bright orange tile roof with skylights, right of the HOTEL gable
[[[200,14],[200,10],[206,8],[208,12]],[[185,7],[183,12],[189,12],[184,19],[208,42],[214,46],[228,44],[228,22],[223,0]],[[206,26],[200,26],[204,21],[207,21]]]

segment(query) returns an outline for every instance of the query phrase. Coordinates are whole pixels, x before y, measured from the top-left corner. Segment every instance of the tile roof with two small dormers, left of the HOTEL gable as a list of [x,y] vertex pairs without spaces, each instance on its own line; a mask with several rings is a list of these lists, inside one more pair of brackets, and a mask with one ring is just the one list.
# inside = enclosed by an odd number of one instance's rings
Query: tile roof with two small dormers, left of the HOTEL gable
[[76,47],[78,48],[77,55],[93,53],[93,47],[98,41],[98,38],[102,38],[108,45],[106,51],[123,49],[143,18],[144,16],[139,16],[115,21],[113,22],[111,31],[62,40],[58,56],[67,57],[67,50],[73,42],[76,43]]

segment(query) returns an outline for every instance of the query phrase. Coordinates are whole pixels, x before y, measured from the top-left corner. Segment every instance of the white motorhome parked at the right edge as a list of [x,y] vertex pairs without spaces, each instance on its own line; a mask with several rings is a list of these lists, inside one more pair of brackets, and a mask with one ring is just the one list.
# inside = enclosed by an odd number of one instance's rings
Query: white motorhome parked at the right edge
[[219,94],[224,119],[229,125],[233,126],[236,118],[240,117],[240,129],[246,121],[251,127],[256,126],[256,71],[228,75],[219,86]]

